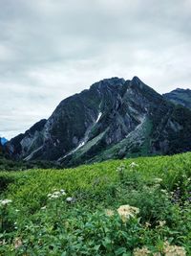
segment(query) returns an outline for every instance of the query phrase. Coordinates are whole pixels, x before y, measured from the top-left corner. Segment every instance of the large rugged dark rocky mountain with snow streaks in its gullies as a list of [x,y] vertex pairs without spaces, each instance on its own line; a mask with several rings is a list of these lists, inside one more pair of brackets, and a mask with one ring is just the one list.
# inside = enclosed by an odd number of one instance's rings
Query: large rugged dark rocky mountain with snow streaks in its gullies
[[63,166],[191,151],[191,111],[134,77],[94,83],[7,144],[11,157]]

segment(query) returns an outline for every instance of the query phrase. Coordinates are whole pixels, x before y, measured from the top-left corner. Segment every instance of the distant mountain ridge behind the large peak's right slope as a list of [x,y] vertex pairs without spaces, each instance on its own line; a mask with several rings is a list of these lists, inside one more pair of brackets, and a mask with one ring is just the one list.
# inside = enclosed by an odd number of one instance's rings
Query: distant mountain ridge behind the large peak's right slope
[[191,90],[177,88],[169,93],[163,94],[163,96],[177,105],[183,105],[191,109]]

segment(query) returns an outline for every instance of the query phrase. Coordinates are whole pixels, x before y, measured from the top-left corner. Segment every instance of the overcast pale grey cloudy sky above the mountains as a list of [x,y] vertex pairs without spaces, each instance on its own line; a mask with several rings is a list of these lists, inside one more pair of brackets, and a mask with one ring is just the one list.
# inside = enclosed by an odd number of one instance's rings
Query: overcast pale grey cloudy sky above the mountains
[[191,0],[0,0],[0,136],[110,77],[191,88]]

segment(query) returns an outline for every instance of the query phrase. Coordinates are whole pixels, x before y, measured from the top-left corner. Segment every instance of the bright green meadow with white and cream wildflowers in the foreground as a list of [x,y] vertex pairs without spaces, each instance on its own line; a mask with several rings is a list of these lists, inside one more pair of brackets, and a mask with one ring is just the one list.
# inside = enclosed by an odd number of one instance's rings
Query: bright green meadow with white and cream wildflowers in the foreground
[[191,153],[1,172],[0,255],[191,255],[190,176]]

